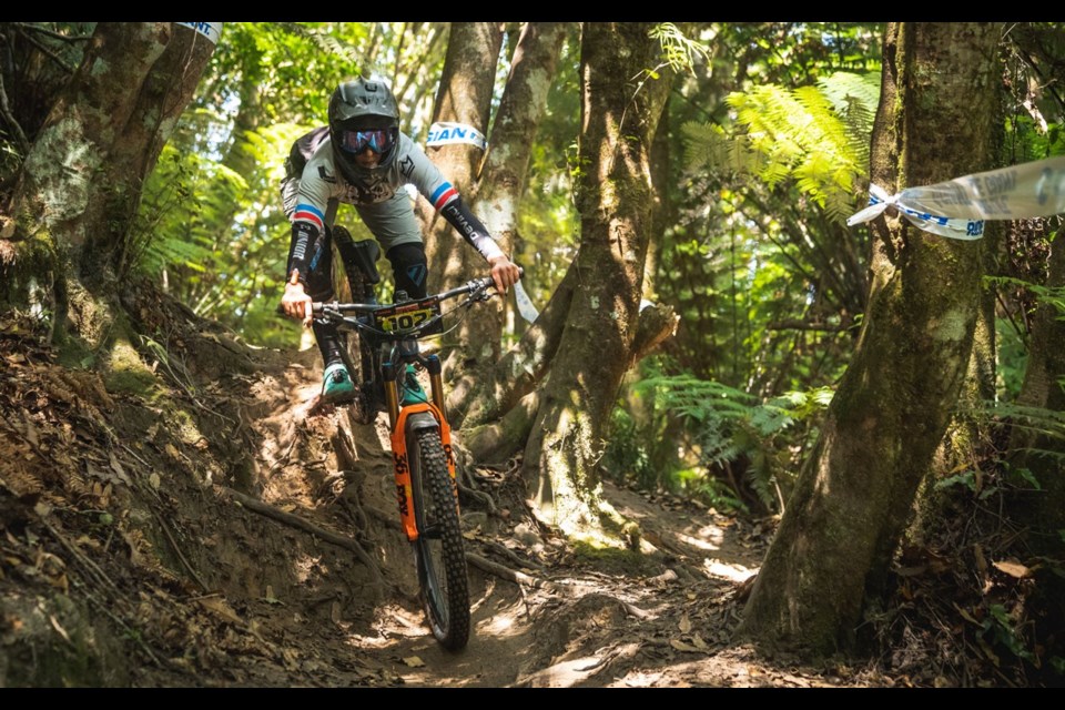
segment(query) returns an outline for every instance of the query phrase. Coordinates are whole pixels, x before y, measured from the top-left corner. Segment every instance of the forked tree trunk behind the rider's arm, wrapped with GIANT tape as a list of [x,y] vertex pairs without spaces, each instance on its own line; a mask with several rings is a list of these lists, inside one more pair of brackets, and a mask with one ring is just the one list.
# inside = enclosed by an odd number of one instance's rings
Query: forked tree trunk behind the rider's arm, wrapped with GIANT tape
[[[455,23],[450,30],[444,78],[437,95],[434,121],[471,125],[489,135],[488,152],[468,143],[434,146],[427,153],[467,205],[485,224],[507,254],[513,254],[518,205],[525,190],[532,139],[547,104],[547,91],[566,33],[558,22],[521,26],[513,48],[510,74],[504,87],[491,129],[491,93],[504,27],[498,23]],[[419,203],[426,232],[426,253],[434,288],[449,288],[487,273],[485,263],[463,244],[450,224]],[[445,346],[463,361],[448,358],[448,372],[483,368],[500,354],[504,302],[480,308],[446,337]],[[453,349],[455,348],[455,349]],[[465,399],[470,390],[458,387]],[[459,406],[467,406],[460,403]]]

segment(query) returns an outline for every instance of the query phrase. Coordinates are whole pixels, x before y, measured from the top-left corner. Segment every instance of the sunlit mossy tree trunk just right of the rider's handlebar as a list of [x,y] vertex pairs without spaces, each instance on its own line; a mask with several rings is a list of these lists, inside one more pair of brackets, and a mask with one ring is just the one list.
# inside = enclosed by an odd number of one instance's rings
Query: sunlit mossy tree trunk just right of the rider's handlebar
[[590,22],[581,36],[578,206],[570,306],[525,448],[538,517],[564,532],[606,523],[597,462],[631,363],[651,229],[650,151],[672,73],[659,78],[651,24]]

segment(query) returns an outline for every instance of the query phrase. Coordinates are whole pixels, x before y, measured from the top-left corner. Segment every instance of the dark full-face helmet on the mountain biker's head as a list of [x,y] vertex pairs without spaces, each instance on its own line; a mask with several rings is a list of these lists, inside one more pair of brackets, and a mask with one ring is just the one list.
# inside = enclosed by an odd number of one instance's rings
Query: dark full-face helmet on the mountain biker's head
[[341,173],[348,180],[359,170],[355,156],[366,150],[386,165],[399,139],[399,105],[383,81],[356,79],[336,88],[329,99],[329,140]]

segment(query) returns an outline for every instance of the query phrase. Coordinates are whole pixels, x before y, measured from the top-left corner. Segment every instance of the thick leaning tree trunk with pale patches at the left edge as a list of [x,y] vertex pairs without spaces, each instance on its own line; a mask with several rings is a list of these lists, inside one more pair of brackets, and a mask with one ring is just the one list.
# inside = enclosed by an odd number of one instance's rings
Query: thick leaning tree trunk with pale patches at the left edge
[[97,26],[22,165],[0,243],[3,297],[51,308],[54,336],[70,327],[95,351],[114,335],[143,181],[213,50],[182,23]]

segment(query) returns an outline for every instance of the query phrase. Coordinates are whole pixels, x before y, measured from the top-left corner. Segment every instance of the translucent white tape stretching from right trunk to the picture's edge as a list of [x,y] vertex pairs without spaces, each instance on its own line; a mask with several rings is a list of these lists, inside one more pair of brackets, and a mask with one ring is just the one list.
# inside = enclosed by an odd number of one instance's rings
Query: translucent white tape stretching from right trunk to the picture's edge
[[869,186],[869,206],[848,226],[895,205],[917,227],[955,240],[978,240],[984,220],[1023,220],[1065,212],[1065,155],[956,178],[889,195]]

